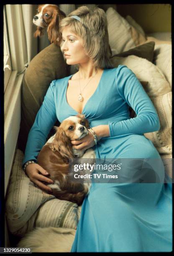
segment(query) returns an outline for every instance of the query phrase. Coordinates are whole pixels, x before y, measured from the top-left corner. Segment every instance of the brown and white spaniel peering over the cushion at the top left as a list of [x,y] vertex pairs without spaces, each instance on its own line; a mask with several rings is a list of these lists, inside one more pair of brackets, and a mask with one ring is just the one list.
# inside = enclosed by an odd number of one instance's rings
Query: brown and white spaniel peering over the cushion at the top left
[[57,5],[38,5],[37,14],[33,17],[33,23],[37,26],[34,37],[42,36],[47,28],[49,41],[60,45],[59,21],[65,18],[65,13]]

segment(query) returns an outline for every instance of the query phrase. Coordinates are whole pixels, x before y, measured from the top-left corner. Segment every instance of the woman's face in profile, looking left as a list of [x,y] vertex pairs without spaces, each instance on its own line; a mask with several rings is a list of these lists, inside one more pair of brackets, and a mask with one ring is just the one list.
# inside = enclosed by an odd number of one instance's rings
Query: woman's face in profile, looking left
[[62,30],[61,51],[68,65],[83,64],[90,59],[84,50],[82,38],[72,33],[68,26]]

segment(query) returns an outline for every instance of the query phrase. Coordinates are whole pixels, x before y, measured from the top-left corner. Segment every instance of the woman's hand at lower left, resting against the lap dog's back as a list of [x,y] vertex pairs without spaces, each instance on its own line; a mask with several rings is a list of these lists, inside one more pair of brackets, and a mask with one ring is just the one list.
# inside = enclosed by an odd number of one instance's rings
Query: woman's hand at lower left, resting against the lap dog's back
[[28,164],[26,167],[26,174],[40,189],[46,190],[46,192],[49,193],[52,192],[52,189],[42,182],[47,182],[49,184],[54,184],[54,182],[52,179],[45,177],[45,175],[49,175],[49,173],[46,172],[40,165],[34,163]]

